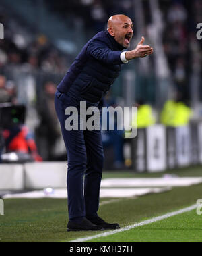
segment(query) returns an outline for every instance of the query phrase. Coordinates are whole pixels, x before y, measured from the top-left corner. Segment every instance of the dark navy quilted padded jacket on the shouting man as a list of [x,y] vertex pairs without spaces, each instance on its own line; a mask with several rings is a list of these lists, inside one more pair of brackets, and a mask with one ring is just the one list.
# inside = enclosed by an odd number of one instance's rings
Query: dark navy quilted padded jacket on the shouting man
[[99,32],[83,47],[57,89],[76,101],[99,103],[119,76],[123,49],[108,31]]

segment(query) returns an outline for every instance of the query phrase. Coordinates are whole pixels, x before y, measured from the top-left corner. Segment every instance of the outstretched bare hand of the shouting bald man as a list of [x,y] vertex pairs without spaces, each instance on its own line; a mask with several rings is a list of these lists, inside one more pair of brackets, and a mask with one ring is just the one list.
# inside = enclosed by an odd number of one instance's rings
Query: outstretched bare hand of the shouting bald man
[[137,45],[137,47],[132,51],[126,51],[125,58],[127,60],[136,59],[136,58],[144,58],[148,55],[151,55],[154,50],[149,45],[143,45],[145,38],[142,37],[141,41]]

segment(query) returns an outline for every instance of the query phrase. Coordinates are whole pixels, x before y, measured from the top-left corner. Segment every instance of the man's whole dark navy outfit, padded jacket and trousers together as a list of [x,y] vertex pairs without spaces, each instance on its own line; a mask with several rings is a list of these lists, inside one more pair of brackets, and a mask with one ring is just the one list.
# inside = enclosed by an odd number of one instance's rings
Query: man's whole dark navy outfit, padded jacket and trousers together
[[[123,47],[107,31],[99,32],[83,47],[57,86],[55,109],[67,149],[69,220],[94,217],[99,207],[104,153],[100,130],[65,129],[67,107],[102,105],[102,98],[119,75]],[[80,116],[78,117],[79,120]],[[86,120],[90,116],[86,116]],[[84,193],[83,193],[83,176]]]

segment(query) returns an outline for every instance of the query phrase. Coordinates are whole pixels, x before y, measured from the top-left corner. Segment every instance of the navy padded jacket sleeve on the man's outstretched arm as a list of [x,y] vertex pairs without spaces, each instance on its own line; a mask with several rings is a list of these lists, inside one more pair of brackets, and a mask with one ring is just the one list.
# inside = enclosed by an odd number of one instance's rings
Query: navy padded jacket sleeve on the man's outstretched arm
[[123,64],[120,57],[122,51],[112,51],[108,48],[108,45],[100,39],[91,41],[87,47],[86,53],[106,64]]

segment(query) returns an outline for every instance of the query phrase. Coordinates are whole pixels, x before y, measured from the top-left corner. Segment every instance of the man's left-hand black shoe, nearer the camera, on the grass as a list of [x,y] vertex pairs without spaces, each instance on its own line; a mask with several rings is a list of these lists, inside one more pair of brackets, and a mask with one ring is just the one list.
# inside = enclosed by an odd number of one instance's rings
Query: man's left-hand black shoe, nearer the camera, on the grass
[[67,224],[67,231],[94,231],[94,230],[104,230],[102,226],[92,224],[86,217],[83,217],[81,222],[73,222],[69,220]]

